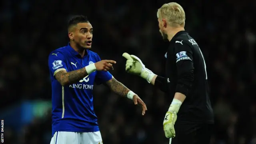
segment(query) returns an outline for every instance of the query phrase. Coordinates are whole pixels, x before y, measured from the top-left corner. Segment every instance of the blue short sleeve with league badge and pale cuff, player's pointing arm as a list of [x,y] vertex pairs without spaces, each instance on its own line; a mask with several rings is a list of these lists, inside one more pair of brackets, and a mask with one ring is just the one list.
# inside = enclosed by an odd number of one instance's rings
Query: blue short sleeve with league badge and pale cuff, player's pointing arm
[[48,66],[52,76],[55,76],[60,70],[66,70],[67,66],[64,60],[64,55],[60,52],[52,52],[48,58]]

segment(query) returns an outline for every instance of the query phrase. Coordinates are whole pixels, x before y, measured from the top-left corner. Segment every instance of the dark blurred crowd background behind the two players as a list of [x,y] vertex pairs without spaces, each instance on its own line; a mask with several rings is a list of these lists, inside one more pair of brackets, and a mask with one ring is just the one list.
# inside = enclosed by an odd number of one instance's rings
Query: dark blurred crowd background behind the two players
[[[94,87],[104,144],[168,144],[162,121],[172,98],[125,72],[123,52],[164,76],[163,42],[156,17],[168,0],[4,0],[0,5],[0,118],[5,144],[49,144],[51,83],[48,54],[68,44],[70,15],[88,16],[92,50],[116,60],[113,76],[147,104],[140,108]],[[206,59],[215,114],[211,144],[256,144],[255,0],[179,0],[185,29]]]

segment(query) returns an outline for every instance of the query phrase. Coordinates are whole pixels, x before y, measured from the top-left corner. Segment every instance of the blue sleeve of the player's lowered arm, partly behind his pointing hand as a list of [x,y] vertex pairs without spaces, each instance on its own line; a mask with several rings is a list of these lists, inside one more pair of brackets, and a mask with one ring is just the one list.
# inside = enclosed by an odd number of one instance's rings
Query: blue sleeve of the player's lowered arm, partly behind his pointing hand
[[[97,55],[97,62],[101,61],[100,56]],[[105,71],[96,71],[96,77],[95,82],[96,84],[102,84],[104,82],[107,82],[108,80],[111,80],[113,78],[112,74],[110,72]]]

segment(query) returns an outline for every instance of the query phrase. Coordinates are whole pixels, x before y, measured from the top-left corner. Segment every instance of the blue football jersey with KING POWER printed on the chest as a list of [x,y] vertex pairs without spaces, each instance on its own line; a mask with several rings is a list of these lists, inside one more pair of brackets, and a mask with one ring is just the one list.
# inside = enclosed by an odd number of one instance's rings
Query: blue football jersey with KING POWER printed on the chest
[[62,86],[55,78],[60,70],[71,72],[100,61],[95,52],[87,50],[83,58],[70,44],[50,53],[48,66],[52,81],[52,135],[57,131],[97,132],[97,116],[93,108],[92,89],[112,79],[109,72],[96,71],[78,82]]

